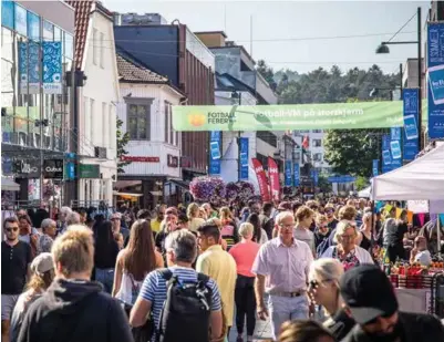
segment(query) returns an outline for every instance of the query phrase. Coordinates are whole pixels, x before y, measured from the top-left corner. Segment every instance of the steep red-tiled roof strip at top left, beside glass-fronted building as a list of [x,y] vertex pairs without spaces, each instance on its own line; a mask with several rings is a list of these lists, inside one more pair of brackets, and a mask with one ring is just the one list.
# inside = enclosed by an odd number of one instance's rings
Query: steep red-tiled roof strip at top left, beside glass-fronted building
[[90,24],[90,13],[95,0],[66,0],[66,3],[75,10],[75,69],[82,69],[83,54],[86,45],[87,27]]

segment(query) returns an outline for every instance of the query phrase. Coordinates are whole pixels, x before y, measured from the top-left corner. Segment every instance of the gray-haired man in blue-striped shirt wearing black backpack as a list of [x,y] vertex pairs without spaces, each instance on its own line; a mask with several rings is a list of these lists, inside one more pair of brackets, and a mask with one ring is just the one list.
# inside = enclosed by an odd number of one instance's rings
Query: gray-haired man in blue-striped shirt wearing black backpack
[[196,272],[196,237],[188,230],[171,232],[165,240],[168,268],[145,278],[130,314],[130,324],[145,324],[149,313],[156,327],[152,341],[223,341],[223,314],[216,282]]

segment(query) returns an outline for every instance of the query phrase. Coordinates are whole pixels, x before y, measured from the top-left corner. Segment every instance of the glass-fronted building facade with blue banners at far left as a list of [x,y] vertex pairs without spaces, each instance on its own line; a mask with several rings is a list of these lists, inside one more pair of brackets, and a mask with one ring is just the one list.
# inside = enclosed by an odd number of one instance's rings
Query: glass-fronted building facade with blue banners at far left
[[74,10],[63,1],[2,1],[1,15],[2,177],[18,184],[2,191],[2,205],[60,206],[72,148]]

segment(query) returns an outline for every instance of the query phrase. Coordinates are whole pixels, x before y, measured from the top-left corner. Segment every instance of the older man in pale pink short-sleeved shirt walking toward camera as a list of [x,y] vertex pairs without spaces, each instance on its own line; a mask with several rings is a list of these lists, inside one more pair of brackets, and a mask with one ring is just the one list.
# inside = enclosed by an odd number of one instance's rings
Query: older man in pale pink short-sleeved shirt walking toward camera
[[[293,213],[280,213],[276,217],[278,237],[260,247],[251,269],[256,274],[257,312],[261,320],[271,318],[275,340],[283,322],[309,317],[307,283],[313,253],[293,237],[295,226]],[[265,292],[269,294],[268,304]]]

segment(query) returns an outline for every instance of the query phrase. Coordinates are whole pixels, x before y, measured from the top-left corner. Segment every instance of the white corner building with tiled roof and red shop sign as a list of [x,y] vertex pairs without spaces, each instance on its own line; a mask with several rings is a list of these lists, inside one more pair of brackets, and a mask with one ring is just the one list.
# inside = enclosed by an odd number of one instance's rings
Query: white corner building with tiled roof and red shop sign
[[118,174],[118,183],[138,186],[144,208],[161,200],[174,203],[169,197],[178,194],[177,183],[168,180],[182,178],[182,136],[173,131],[172,105],[180,104],[184,94],[167,77],[151,71],[127,52],[117,52],[117,66],[121,89],[117,115],[123,122],[122,132],[130,134],[124,159],[131,162]]

